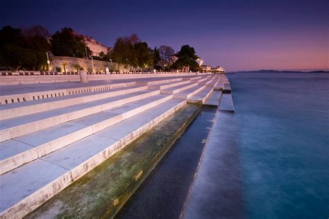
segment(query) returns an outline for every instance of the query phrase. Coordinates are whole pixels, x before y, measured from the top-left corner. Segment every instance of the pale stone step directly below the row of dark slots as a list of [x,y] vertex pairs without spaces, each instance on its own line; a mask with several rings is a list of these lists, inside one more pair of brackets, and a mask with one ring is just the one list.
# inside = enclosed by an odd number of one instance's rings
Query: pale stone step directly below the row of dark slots
[[0,105],[0,119],[10,119],[17,116],[34,114],[36,112],[44,112],[51,109],[67,107],[79,103],[87,103],[93,100],[100,100],[103,98],[109,98],[111,96],[129,94],[145,89],[147,89],[147,86],[121,87],[117,89],[107,89],[67,96],[54,96],[53,98],[42,98],[38,100]]

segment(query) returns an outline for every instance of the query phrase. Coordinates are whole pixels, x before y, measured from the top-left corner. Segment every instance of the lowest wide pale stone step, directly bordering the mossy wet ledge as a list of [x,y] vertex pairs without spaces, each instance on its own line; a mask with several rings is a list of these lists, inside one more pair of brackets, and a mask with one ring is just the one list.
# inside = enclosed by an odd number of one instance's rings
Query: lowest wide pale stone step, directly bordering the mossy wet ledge
[[167,100],[1,175],[0,217],[22,218],[185,104]]

